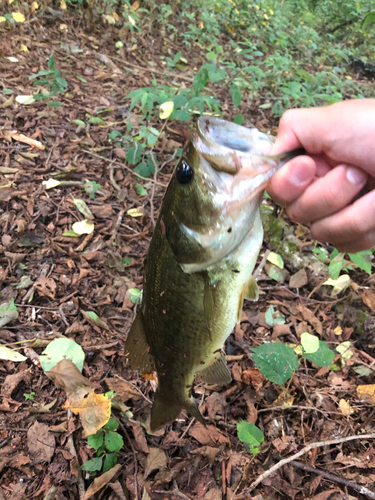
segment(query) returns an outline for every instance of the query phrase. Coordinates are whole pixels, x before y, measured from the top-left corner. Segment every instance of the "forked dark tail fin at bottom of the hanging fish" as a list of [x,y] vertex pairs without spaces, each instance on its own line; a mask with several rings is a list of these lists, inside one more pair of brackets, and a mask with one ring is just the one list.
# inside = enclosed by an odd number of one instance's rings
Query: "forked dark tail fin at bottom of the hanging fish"
[[157,389],[151,409],[151,432],[155,432],[160,427],[172,423],[179,416],[183,408],[203,425],[206,425],[195,401],[187,399],[184,402],[173,402],[160,394]]

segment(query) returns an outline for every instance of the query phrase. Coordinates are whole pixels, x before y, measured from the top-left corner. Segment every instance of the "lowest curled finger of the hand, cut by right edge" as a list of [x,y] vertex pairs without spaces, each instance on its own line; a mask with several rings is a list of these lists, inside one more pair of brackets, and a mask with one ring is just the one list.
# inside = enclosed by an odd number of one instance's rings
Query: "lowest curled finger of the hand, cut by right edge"
[[336,247],[350,248],[358,241],[358,247],[375,245],[375,191],[362,196],[352,205],[337,214],[321,219],[311,225],[312,236]]

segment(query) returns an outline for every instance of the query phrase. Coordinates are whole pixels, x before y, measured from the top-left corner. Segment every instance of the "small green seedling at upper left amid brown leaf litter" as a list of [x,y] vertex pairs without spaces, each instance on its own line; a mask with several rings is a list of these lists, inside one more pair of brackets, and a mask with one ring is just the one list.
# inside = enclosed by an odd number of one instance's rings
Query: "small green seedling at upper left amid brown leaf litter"
[[52,96],[56,96],[57,94],[63,94],[65,89],[68,87],[68,82],[61,76],[61,73],[58,69],[56,69],[55,59],[53,57],[53,53],[49,56],[48,59],[48,68],[42,69],[35,75],[31,75],[29,80],[35,80],[33,85],[41,85],[47,86],[49,90],[42,90],[34,95],[34,101],[38,100],[47,100],[48,104],[52,108],[59,108],[61,106],[61,102],[59,101],[50,101],[49,98]]

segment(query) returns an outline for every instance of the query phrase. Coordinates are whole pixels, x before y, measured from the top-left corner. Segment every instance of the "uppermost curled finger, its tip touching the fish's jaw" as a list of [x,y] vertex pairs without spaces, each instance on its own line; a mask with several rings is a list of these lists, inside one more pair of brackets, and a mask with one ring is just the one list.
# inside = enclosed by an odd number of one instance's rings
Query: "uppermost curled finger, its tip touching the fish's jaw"
[[290,160],[271,178],[267,193],[283,205],[297,199],[315,177],[315,161],[309,156],[298,156]]

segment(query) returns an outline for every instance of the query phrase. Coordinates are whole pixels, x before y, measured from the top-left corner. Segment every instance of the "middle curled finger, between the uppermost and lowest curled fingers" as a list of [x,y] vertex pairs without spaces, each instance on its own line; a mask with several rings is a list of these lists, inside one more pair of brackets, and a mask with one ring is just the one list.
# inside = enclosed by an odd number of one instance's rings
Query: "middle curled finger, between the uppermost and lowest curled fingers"
[[289,205],[289,217],[302,224],[332,215],[348,205],[367,182],[363,170],[340,165],[313,182]]

